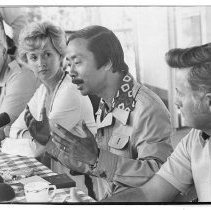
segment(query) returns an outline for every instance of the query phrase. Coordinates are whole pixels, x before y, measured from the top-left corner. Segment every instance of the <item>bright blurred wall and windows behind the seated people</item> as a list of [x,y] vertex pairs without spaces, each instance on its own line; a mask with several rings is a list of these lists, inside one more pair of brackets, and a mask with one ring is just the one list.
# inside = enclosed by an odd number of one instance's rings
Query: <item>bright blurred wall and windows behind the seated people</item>
[[[29,6],[29,21],[52,21],[68,31],[103,25],[120,39],[131,74],[156,92],[168,107],[175,128],[185,126],[174,106],[175,76],[165,53],[211,40],[210,6]],[[6,33],[11,34],[9,26]]]

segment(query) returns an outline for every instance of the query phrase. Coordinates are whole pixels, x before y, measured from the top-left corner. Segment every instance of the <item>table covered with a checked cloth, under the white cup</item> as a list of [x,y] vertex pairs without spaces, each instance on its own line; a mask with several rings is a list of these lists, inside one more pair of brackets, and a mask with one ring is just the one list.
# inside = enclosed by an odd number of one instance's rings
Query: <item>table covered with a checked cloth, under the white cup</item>
[[[19,169],[31,168],[33,169],[33,175],[40,177],[56,175],[45,165],[37,161],[35,158],[19,156],[19,155],[10,155],[0,152],[0,171],[10,170],[16,171]],[[16,192],[15,185],[11,185],[15,190],[16,197],[10,201],[12,203],[26,203],[24,192]],[[77,195],[77,199],[73,199],[71,193]],[[64,188],[57,189],[54,199],[51,202],[95,202],[94,199],[86,195],[79,188]]]

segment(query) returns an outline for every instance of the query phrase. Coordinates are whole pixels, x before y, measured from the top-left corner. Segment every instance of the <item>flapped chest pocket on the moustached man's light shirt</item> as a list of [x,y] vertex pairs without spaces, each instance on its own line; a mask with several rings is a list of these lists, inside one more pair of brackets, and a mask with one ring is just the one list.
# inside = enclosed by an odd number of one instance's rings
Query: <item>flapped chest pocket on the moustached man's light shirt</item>
[[110,152],[122,157],[129,157],[129,140],[130,136],[111,136],[108,142]]

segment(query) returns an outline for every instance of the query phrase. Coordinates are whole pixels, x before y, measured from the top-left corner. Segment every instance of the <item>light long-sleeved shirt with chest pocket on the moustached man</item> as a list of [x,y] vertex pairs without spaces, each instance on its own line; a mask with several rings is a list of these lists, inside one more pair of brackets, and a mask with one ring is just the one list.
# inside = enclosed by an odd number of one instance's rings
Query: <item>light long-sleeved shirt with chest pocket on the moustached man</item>
[[[172,152],[168,110],[155,93],[133,80],[131,82],[132,86],[126,91],[130,97],[122,100],[121,93],[125,92],[120,91],[118,99],[113,100],[116,105],[106,116],[103,109],[96,113],[100,154],[91,173],[98,177],[93,177],[97,200],[127,187],[141,186]],[[124,101],[130,103],[125,106]]]

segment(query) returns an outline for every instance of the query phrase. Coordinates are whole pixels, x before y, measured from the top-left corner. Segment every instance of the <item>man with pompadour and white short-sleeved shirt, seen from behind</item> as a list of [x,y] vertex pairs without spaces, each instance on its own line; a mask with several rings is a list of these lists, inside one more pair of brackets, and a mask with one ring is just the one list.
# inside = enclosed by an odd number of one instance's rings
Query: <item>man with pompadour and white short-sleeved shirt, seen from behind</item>
[[193,129],[149,182],[104,202],[173,201],[193,185],[198,201],[211,201],[211,44],[173,49],[166,58],[176,69],[176,105]]

